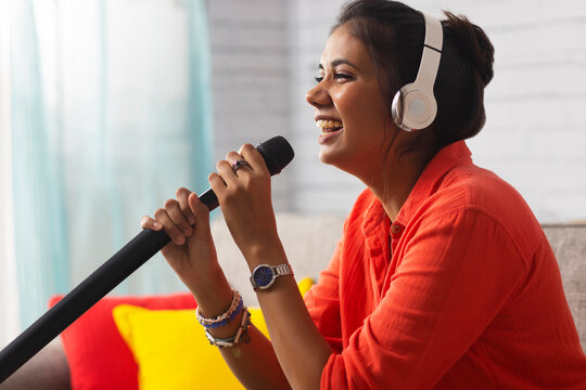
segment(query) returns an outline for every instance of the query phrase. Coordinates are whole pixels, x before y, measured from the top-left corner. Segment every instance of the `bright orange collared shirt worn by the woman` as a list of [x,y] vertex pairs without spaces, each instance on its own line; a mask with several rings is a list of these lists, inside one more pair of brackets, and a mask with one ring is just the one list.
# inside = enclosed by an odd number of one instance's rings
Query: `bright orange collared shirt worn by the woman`
[[309,313],[333,349],[322,389],[586,389],[553,252],[523,198],[463,141],[391,223],[367,190]]

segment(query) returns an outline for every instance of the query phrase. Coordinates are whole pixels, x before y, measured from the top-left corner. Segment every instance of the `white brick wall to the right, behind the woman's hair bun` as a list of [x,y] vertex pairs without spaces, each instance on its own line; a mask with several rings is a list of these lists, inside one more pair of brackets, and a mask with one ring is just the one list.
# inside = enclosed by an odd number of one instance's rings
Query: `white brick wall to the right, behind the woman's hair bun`
[[543,222],[586,219],[586,3],[419,0],[485,28],[495,46],[476,164],[513,184]]

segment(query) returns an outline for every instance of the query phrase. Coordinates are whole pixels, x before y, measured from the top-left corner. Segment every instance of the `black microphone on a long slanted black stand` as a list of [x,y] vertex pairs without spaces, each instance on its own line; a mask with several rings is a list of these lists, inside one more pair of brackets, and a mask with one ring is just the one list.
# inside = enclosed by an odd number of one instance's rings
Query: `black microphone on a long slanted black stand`
[[[256,150],[270,176],[280,173],[294,157],[293,148],[280,135],[260,143]],[[218,198],[212,188],[203,193],[200,200],[209,210],[218,207]],[[126,244],[0,351],[0,384],[169,242],[165,231],[144,229]]]

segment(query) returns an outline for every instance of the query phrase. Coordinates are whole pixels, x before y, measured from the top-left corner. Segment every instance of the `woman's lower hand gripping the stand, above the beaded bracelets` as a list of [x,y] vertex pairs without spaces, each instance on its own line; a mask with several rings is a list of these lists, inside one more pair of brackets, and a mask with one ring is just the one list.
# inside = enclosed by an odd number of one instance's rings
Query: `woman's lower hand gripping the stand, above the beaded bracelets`
[[154,231],[164,230],[171,242],[162,253],[181,281],[193,291],[211,272],[217,272],[216,247],[209,230],[209,210],[195,193],[177,190],[177,199],[168,199],[165,207],[154,213],[155,219],[144,216],[141,226]]

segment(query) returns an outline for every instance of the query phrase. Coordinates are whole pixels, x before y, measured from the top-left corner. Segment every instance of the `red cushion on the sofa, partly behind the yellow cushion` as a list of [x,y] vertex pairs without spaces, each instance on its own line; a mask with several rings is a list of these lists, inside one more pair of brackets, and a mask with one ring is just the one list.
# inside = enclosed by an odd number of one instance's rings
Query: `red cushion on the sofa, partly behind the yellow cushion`
[[[52,297],[49,307],[61,298]],[[138,390],[137,363],[112,317],[112,310],[122,303],[153,310],[195,309],[191,294],[102,298],[61,334],[72,390]]]

